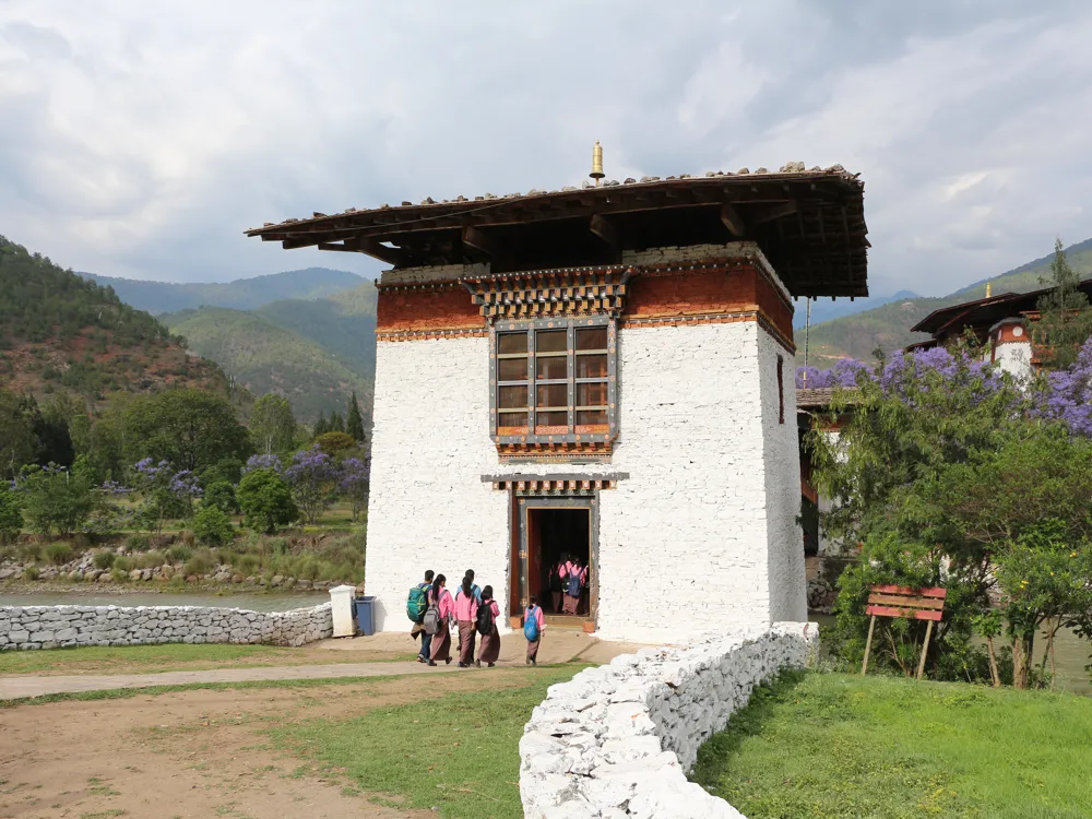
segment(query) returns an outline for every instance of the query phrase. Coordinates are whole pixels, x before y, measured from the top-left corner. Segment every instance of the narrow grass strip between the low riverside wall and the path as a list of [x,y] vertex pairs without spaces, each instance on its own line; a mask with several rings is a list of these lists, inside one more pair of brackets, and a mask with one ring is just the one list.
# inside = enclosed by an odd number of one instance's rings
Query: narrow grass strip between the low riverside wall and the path
[[246,668],[256,665],[336,665],[408,661],[412,654],[380,651],[322,651],[275,645],[165,643],[163,645],[84,646],[0,653],[4,674],[143,674],[153,672]]

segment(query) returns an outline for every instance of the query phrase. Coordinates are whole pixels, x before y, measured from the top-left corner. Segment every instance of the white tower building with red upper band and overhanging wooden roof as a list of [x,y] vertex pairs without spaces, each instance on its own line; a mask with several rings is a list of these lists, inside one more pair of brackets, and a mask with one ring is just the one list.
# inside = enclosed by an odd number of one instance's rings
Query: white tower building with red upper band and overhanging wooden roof
[[567,551],[586,630],[803,620],[793,298],[864,296],[840,166],[351,211],[248,232],[379,280],[367,593],[426,569],[518,621]]

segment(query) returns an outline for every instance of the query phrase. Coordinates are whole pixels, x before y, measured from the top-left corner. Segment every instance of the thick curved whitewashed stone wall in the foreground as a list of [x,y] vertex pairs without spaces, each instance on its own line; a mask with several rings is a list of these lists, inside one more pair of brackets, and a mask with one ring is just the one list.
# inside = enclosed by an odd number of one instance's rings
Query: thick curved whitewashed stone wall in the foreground
[[803,667],[816,624],[645,649],[550,686],[520,740],[529,819],[741,819],[686,779],[698,749],[758,684]]

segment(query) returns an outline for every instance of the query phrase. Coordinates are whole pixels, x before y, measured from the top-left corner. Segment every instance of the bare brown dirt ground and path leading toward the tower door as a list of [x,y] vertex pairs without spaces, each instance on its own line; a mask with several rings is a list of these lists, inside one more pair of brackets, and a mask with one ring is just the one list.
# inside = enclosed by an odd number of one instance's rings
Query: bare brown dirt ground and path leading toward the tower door
[[276,752],[262,732],[526,680],[522,672],[501,669],[483,677],[418,674],[307,689],[193,690],[10,708],[0,711],[0,817],[435,817],[397,808],[396,797],[359,793],[337,771],[316,771]]

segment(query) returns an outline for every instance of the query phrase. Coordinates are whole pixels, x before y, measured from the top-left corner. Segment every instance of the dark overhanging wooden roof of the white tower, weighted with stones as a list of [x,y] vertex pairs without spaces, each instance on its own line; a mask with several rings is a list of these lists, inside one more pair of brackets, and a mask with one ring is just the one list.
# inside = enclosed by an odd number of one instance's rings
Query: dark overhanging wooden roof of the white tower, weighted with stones
[[250,228],[285,249],[367,253],[393,268],[497,272],[612,264],[622,250],[753,240],[795,296],[867,296],[864,182],[841,165],[644,177],[348,209]]

